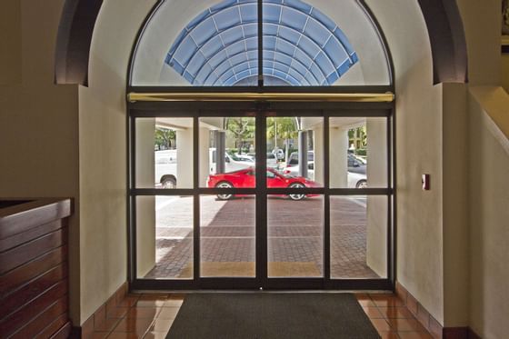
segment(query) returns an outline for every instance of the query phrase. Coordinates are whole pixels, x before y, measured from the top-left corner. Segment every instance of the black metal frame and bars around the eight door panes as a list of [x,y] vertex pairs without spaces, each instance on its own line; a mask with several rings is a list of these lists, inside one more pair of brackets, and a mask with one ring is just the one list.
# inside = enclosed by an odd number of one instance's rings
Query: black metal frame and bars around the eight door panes
[[[146,89],[145,89],[146,90]],[[147,90],[148,91],[148,90]],[[169,102],[169,103],[129,103],[128,104],[128,256],[129,283],[133,290],[201,290],[201,289],[316,289],[316,290],[394,290],[394,104],[393,103],[292,103],[292,102]],[[183,114],[182,112],[185,112]],[[266,180],[266,119],[267,113],[277,116],[318,116],[324,118],[324,188],[294,189],[300,193],[324,195],[324,277],[319,278],[269,278],[267,277],[267,194],[288,194],[292,189],[266,188],[257,184],[256,188],[215,189],[199,187],[198,151],[199,118],[204,116],[255,116],[256,183]],[[194,188],[155,189],[135,188],[135,119],[139,117],[187,117],[194,121]],[[272,116],[272,115],[271,115]],[[386,188],[329,188],[329,118],[334,116],[364,116],[387,118],[387,165]],[[200,277],[200,195],[202,194],[256,194],[256,276],[253,278]],[[381,279],[331,279],[330,277],[330,195],[385,195],[387,196],[387,277]],[[154,195],[193,195],[194,197],[194,278],[181,279],[143,279],[136,276],[136,196]]]

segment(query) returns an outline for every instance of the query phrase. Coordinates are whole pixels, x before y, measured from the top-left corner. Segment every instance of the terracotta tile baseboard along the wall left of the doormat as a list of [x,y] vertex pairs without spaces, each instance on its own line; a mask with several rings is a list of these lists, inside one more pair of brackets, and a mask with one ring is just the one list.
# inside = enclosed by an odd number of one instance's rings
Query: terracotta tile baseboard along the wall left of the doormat
[[85,323],[81,326],[73,326],[70,338],[80,339],[90,337],[94,332],[95,327],[103,324],[108,310],[113,309],[117,306],[117,304],[122,303],[128,291],[129,284],[125,282],[106,300],[104,304],[99,306],[95,312],[85,320]]

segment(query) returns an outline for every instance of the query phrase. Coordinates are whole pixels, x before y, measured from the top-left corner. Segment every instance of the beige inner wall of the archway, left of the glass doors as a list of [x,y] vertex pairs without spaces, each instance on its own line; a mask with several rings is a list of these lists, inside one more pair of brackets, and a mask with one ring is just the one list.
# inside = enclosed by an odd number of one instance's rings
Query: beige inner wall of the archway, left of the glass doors
[[125,76],[154,1],[106,1],[80,87],[81,322],[127,279]]

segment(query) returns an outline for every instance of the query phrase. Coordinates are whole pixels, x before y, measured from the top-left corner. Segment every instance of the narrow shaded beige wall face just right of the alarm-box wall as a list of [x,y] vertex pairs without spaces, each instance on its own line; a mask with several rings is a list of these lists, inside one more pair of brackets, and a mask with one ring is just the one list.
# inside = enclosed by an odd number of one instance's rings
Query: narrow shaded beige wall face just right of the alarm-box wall
[[444,326],[460,327],[468,324],[469,307],[467,86],[443,90]]

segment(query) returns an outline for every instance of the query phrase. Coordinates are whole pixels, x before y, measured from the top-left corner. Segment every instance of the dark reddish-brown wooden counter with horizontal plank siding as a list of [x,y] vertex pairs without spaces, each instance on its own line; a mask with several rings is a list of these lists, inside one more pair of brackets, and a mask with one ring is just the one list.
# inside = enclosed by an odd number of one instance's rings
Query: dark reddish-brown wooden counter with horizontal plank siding
[[0,338],[66,338],[70,199],[0,199]]

